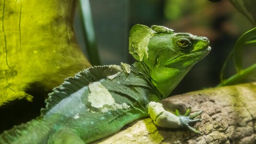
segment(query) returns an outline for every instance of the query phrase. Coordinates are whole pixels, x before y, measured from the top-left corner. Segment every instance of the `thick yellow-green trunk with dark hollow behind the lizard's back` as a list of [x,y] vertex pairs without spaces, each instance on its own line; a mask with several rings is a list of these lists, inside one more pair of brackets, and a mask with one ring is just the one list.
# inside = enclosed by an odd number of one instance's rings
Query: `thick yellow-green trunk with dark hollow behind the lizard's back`
[[75,2],[0,0],[0,131],[39,115],[53,87],[90,66],[73,32]]

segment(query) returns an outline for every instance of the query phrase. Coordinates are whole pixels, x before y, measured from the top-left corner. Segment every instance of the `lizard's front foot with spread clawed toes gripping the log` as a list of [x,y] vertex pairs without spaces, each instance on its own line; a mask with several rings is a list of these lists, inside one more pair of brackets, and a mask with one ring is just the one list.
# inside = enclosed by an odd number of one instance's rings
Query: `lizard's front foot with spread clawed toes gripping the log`
[[180,115],[180,112],[178,109],[175,109],[175,115],[180,118],[180,121],[182,123],[182,127],[185,129],[190,130],[191,132],[195,132],[196,134],[200,134],[199,131],[195,130],[195,128],[191,127],[189,123],[202,121],[202,119],[194,119],[198,115],[200,115],[203,111],[199,110],[194,115],[189,115],[191,112],[191,107],[189,107],[184,115]]

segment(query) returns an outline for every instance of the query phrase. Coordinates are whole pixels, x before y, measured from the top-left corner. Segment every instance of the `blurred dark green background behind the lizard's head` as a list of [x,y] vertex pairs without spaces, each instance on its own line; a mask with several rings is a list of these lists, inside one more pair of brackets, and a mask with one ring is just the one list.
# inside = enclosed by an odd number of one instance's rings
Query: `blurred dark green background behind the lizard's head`
[[[197,63],[171,95],[200,90],[219,84],[219,72],[235,41],[253,25],[229,0],[90,0],[99,57],[102,65],[134,59],[128,53],[129,30],[134,24],[163,25],[175,32],[207,36],[212,47],[209,55]],[[75,14],[77,41],[85,52],[80,13]],[[250,49],[244,61],[254,61]],[[86,52],[85,52],[86,55]],[[86,55],[87,56],[87,55]],[[228,63],[226,77],[235,73]]]

